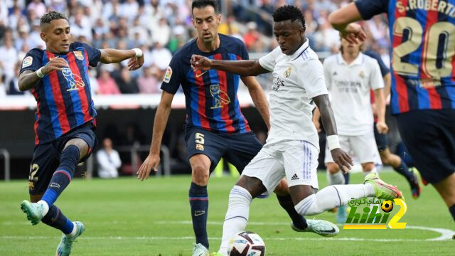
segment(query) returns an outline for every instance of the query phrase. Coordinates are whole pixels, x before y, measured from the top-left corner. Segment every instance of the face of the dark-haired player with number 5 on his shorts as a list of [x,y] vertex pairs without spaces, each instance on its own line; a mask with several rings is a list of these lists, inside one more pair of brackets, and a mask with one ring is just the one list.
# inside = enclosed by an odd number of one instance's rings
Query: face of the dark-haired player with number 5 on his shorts
[[221,14],[216,14],[213,6],[193,9],[193,25],[204,43],[211,43],[217,38],[220,21]]

